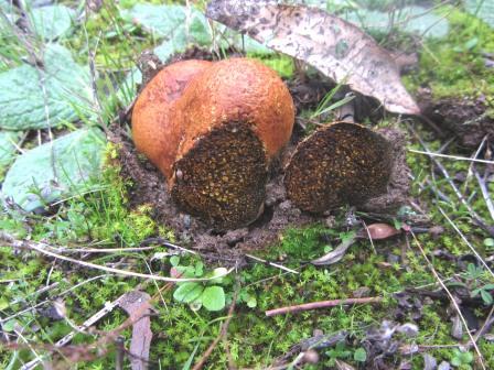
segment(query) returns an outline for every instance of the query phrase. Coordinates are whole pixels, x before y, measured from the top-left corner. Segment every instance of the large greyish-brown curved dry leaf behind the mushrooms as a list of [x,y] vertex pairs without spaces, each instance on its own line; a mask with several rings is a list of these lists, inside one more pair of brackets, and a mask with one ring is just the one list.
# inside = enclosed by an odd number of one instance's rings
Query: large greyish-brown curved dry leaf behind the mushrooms
[[357,26],[323,10],[272,0],[212,0],[206,15],[377,98],[391,112],[420,111],[389,53]]

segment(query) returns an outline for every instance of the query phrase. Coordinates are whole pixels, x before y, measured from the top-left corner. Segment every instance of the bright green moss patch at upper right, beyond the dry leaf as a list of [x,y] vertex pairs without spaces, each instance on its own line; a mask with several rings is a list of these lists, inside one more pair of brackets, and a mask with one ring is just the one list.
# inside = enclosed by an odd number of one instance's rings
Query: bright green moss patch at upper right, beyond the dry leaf
[[444,40],[428,40],[418,73],[405,78],[410,90],[431,87],[434,98],[494,95],[494,74],[482,53],[494,52],[494,31],[479,19],[450,9],[450,32]]

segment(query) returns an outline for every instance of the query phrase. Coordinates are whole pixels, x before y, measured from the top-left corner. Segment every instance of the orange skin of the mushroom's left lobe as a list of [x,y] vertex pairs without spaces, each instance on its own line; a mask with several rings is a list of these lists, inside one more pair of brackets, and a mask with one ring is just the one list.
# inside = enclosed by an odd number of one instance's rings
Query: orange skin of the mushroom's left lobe
[[132,139],[143,153],[170,178],[183,126],[170,118],[170,107],[187,84],[211,67],[207,61],[183,61],[160,70],[144,87],[132,110]]

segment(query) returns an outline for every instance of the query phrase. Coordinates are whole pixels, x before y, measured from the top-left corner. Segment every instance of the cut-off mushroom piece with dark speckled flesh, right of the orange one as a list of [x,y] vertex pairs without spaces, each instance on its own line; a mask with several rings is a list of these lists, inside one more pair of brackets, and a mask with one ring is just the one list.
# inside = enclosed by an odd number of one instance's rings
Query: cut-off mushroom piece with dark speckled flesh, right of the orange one
[[391,145],[384,137],[361,124],[334,122],[297,146],[284,186],[297,207],[322,214],[385,193],[391,167]]

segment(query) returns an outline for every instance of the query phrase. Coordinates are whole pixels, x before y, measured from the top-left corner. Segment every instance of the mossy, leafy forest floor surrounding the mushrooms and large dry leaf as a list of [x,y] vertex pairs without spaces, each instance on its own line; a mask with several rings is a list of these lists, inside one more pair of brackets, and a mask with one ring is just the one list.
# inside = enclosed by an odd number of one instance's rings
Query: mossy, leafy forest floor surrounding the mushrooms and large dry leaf
[[310,1],[397,56],[422,116],[358,97],[356,118],[395,132],[408,192],[315,217],[276,170],[262,217],[228,232],[136,153],[141,53],[272,67],[297,106],[284,155],[344,94],[204,1],[158,3],[0,0],[0,368],[494,369],[494,3]]

